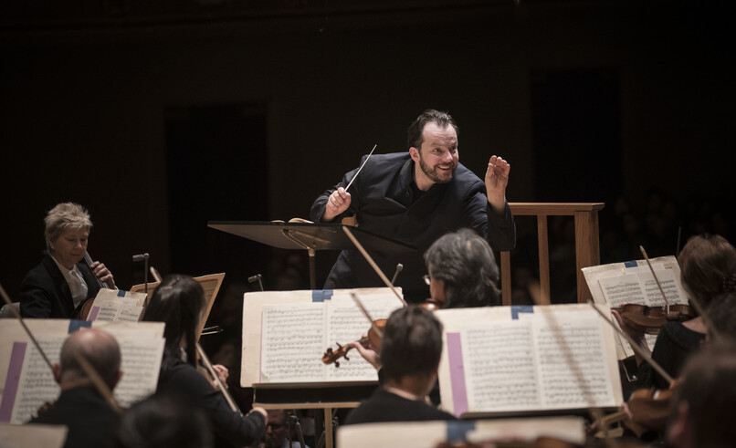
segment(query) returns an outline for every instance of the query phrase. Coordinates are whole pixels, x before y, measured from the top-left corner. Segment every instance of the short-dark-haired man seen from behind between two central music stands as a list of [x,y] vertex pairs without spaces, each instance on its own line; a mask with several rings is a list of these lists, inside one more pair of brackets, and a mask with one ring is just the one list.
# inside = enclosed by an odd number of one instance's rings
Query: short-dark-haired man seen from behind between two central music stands
[[442,353],[442,324],[431,311],[408,306],[386,320],[381,342],[384,383],[348,414],[345,424],[454,420],[427,404]]

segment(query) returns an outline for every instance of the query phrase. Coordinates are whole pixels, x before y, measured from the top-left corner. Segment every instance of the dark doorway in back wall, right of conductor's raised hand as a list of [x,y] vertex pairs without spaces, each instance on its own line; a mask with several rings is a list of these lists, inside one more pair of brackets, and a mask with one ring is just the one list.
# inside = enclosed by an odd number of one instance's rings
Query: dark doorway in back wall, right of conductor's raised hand
[[621,192],[621,112],[613,69],[532,74],[535,198],[606,202]]

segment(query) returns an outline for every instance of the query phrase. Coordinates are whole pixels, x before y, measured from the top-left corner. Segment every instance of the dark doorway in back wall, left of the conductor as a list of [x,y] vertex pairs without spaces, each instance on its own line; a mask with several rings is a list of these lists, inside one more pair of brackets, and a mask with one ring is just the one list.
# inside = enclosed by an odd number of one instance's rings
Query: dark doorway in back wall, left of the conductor
[[208,221],[268,220],[264,104],[166,109],[169,229],[173,272],[257,274],[267,248],[207,227]]

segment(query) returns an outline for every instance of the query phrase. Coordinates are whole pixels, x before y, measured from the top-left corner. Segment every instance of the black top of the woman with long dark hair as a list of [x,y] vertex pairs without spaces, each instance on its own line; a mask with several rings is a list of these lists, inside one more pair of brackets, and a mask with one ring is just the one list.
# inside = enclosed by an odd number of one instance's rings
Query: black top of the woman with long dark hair
[[243,417],[233,412],[222,393],[191,364],[164,356],[158,392],[172,394],[205,412],[215,435],[216,446],[245,446],[266,433],[266,419],[260,412]]

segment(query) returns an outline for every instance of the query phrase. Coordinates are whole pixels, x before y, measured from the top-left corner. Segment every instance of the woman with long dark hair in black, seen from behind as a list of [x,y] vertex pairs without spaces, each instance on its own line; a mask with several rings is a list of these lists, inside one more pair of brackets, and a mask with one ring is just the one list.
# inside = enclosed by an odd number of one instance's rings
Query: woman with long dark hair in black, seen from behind
[[144,321],[165,322],[158,392],[173,393],[205,412],[216,446],[242,446],[266,432],[266,411],[233,412],[219,391],[196,369],[195,329],[205,309],[205,291],[191,276],[163,278],[145,309]]

